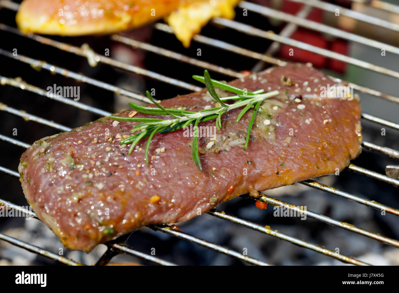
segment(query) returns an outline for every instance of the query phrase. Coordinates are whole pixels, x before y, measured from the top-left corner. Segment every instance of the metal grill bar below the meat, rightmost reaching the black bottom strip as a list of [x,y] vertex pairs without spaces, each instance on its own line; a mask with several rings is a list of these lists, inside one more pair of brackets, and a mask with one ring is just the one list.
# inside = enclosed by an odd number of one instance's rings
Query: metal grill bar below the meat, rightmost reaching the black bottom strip
[[235,224],[239,224],[241,226],[244,226],[246,228],[255,230],[257,232],[261,232],[263,234],[268,234],[268,235],[277,237],[279,239],[286,240],[286,241],[291,242],[293,244],[296,244],[298,246],[302,246],[302,247],[314,250],[314,251],[319,252],[321,254],[324,254],[326,256],[330,256],[332,258],[340,260],[341,262],[345,262],[345,263],[348,263],[348,264],[354,264],[354,265],[369,265],[369,264],[366,264],[365,262],[361,262],[361,261],[356,260],[354,258],[351,258],[349,256],[345,256],[343,254],[337,254],[337,253],[335,253],[332,250],[329,250],[329,249],[326,249],[326,248],[322,248],[320,246],[311,244],[311,243],[303,241],[303,240],[296,239],[294,237],[282,234],[282,233],[280,233],[278,231],[271,230],[268,226],[266,226],[266,227],[259,226],[259,225],[255,224],[253,222],[249,222],[247,220],[243,220],[243,219],[237,218],[235,216],[231,216],[229,214],[226,214],[224,212],[219,212],[219,211],[214,210],[214,209],[209,211],[208,213],[211,214],[212,216],[217,217],[217,218],[221,218],[223,220],[227,220],[227,221],[233,222]]

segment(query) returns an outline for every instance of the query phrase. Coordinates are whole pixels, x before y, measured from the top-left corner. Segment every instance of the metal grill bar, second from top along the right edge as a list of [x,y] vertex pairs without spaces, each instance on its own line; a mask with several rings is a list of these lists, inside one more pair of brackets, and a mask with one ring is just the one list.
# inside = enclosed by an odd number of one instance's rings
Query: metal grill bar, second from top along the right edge
[[327,2],[322,2],[318,0],[290,0],[291,2],[302,3],[306,5],[310,5],[316,8],[320,8],[322,10],[335,13],[336,9],[339,9],[340,15],[348,16],[350,18],[354,18],[356,20],[360,20],[362,22],[367,22],[369,24],[373,24],[375,26],[381,26],[382,28],[392,29],[394,31],[399,31],[399,25],[393,24],[386,20],[381,20],[380,18],[376,18],[373,16],[369,16],[367,14],[363,14],[360,12],[356,12],[342,6],[338,6],[335,4],[330,4]]

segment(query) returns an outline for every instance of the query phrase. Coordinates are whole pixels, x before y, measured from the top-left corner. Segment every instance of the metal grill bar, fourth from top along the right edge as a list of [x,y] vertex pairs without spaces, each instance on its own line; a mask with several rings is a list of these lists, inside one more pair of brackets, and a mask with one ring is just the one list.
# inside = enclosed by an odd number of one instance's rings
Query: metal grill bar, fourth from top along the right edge
[[265,39],[271,39],[273,41],[278,41],[280,43],[284,43],[287,45],[291,45],[293,47],[297,47],[300,49],[304,49],[306,51],[310,51],[328,58],[333,58],[336,60],[343,61],[345,63],[350,63],[352,65],[356,65],[358,67],[362,67],[365,69],[369,69],[378,73],[382,73],[385,75],[389,75],[391,77],[395,77],[399,79],[399,72],[393,71],[391,69],[381,67],[378,65],[371,64],[369,62],[359,60],[353,57],[348,57],[346,55],[342,55],[340,53],[336,53],[327,49],[323,49],[320,47],[316,47],[314,45],[310,45],[308,43],[304,43],[301,41],[296,41],[294,39],[290,39],[289,37],[284,37],[282,35],[276,35],[275,33],[271,33],[269,31],[264,31],[262,29],[255,28],[253,26],[249,26],[247,24],[243,24],[241,22],[236,22],[234,20],[228,20],[225,18],[213,18],[211,20],[212,23],[218,24],[220,26],[224,26],[226,28],[235,29],[237,31],[246,33],[248,35],[253,35],[255,37],[262,37]]

